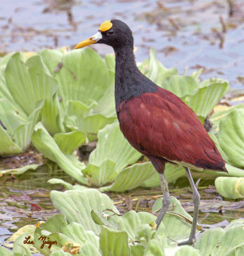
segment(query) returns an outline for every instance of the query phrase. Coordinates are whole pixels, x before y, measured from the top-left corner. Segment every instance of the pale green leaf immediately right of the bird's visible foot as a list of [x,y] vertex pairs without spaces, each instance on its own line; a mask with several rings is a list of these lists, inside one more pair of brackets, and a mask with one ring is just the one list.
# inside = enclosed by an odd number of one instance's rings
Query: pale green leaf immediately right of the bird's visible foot
[[202,255],[210,255],[211,251],[220,244],[220,240],[224,235],[221,227],[211,228],[198,238],[195,249],[199,249]]

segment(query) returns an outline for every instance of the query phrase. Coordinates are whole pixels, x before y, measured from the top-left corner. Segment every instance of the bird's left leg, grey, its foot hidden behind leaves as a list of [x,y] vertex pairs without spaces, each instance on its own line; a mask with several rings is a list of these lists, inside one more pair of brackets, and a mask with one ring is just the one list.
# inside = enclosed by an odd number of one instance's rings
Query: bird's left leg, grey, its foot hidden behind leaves
[[161,189],[163,192],[163,207],[159,211],[158,218],[156,219],[156,224],[157,224],[157,229],[159,228],[159,225],[163,219],[163,216],[166,214],[168,210],[168,206],[170,205],[170,196],[168,192],[168,183],[167,180],[165,179],[164,173],[159,174],[160,178],[160,183],[161,183]]

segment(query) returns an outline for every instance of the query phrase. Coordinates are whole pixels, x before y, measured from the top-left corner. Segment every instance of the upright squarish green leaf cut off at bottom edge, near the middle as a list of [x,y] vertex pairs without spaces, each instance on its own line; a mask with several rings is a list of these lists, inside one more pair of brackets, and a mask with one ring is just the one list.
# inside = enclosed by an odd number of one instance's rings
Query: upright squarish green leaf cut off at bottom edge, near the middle
[[100,235],[102,256],[129,256],[128,235],[110,227],[102,227]]

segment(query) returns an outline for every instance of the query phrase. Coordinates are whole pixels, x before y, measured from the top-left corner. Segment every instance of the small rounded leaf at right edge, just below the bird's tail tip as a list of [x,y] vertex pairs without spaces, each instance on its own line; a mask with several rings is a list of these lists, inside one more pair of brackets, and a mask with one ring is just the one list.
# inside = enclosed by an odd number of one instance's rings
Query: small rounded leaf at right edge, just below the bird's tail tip
[[218,177],[215,181],[216,190],[221,196],[230,199],[244,197],[244,178]]

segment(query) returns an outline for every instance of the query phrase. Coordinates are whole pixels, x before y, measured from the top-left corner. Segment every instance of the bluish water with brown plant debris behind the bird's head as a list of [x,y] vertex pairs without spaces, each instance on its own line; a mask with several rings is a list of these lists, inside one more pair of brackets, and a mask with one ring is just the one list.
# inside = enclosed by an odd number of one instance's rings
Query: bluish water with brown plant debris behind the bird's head
[[[155,47],[167,68],[244,84],[244,1],[232,0],[1,0],[0,52],[74,46],[105,20],[133,30],[137,61]],[[93,46],[111,53],[108,46]]]

